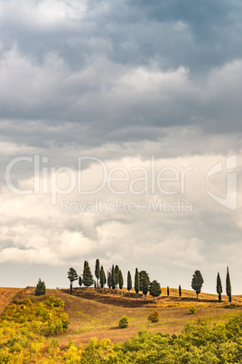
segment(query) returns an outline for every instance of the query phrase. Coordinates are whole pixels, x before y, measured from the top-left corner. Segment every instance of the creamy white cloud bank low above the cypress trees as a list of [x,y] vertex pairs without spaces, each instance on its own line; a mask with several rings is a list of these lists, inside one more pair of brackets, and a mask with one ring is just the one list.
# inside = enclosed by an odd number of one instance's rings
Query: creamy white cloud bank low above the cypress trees
[[[202,141],[200,140],[201,144]],[[223,140],[221,140],[223,143]],[[160,144],[154,149],[159,148]],[[129,157],[122,158],[122,148],[113,145],[110,149],[106,147],[94,148],[83,151],[84,155],[96,155],[104,158],[107,171],[111,168],[126,168],[130,174],[127,183],[119,182],[114,184],[116,190],[123,191],[129,187],[132,180],[140,177],[142,173],[136,173],[132,168],[145,168],[151,180],[151,156],[146,157],[148,151],[144,151],[145,158],[131,157],[133,146],[129,146]],[[119,153],[118,158],[111,158],[110,151]],[[126,146],[127,148],[127,146]],[[137,144],[135,148],[142,149]],[[109,153],[107,152],[109,150]],[[52,152],[52,151],[51,151]],[[65,158],[58,158],[64,156]],[[54,160],[58,161],[58,167],[66,165],[72,161],[73,171],[77,174],[77,151],[75,148],[59,148],[55,150]],[[47,153],[48,154],[48,153]],[[51,154],[51,156],[54,156]],[[81,155],[80,155],[81,156]],[[108,157],[108,158],[107,158]],[[238,156],[240,161],[241,155]],[[196,267],[203,270],[210,269],[211,255],[209,251],[217,249],[219,244],[233,246],[234,239],[241,234],[240,209],[236,212],[219,206],[213,201],[205,189],[205,177],[209,168],[222,161],[221,154],[187,156],[186,158],[159,158],[155,156],[155,176],[164,167],[175,168],[179,177],[181,168],[192,167],[185,177],[184,195],[181,194],[181,181],[163,182],[163,188],[167,191],[178,189],[178,194],[166,196],[156,187],[155,194],[151,192],[151,185],[148,187],[148,194],[145,196],[134,196],[128,192],[125,196],[116,196],[107,187],[97,195],[80,196],[78,191],[64,196],[68,200],[68,209],[60,211],[60,198],[57,199],[57,206],[51,206],[50,195],[30,195],[16,196],[7,187],[2,187],[0,195],[0,215],[1,229],[0,241],[2,244],[1,262],[18,263],[46,263],[65,265],[67,263],[79,264],[83,259],[92,261],[94,257],[100,257],[106,264],[106,269],[112,263],[119,263],[124,269],[133,269],[133,265],[147,267],[146,269],[155,274],[159,272],[162,263],[162,272],[174,269],[176,272],[182,270],[191,272]],[[50,158],[49,164],[52,165]],[[49,172],[51,166],[47,164]],[[42,165],[41,165],[42,167]],[[141,169],[140,169],[141,170]],[[16,171],[15,171],[16,172]],[[18,177],[19,186],[24,188],[33,187],[33,171],[27,175]],[[82,178],[86,180],[83,187],[93,189],[100,181],[99,167],[96,164],[89,164],[83,170]],[[120,175],[121,176],[121,175]],[[119,176],[119,177],[120,177]],[[61,176],[60,176],[61,177]],[[115,177],[115,175],[113,176]],[[168,175],[166,176],[168,177]],[[68,181],[68,176],[62,175],[63,183]],[[222,195],[226,190],[226,174],[218,176],[216,185],[209,187],[216,194]],[[240,174],[238,174],[240,178]],[[66,181],[66,182],[65,182]],[[213,182],[213,181],[211,181]],[[143,182],[142,182],[143,184]],[[136,186],[143,188],[142,184]],[[63,185],[64,186],[64,185]],[[214,189],[215,188],[215,189]],[[241,188],[238,189],[238,201],[241,201]],[[62,196],[63,197],[63,196]],[[138,212],[134,208],[116,208],[116,198],[123,198],[128,203],[144,203],[144,211]],[[162,198],[163,202],[176,202],[178,197],[190,201],[191,212],[155,212],[154,208],[148,209],[149,200],[155,201]],[[98,203],[94,205],[95,199],[102,203],[111,204],[110,210],[105,214],[101,211]],[[81,204],[84,209],[73,212],[70,203]],[[91,203],[96,210],[85,209],[85,203]],[[122,204],[121,204],[122,205]],[[133,206],[134,207],[134,206]],[[229,225],[234,225],[234,231],[228,229]],[[218,231],[217,231],[218,229]],[[12,254],[13,253],[13,254]],[[44,260],[44,254],[48,257]],[[216,266],[226,264],[227,251],[220,250]],[[234,258],[231,258],[234,259]],[[116,262],[115,262],[116,261]],[[131,263],[132,262],[132,263]],[[129,263],[131,264],[129,268]],[[171,268],[173,267],[173,268]],[[157,277],[159,279],[159,277]]]

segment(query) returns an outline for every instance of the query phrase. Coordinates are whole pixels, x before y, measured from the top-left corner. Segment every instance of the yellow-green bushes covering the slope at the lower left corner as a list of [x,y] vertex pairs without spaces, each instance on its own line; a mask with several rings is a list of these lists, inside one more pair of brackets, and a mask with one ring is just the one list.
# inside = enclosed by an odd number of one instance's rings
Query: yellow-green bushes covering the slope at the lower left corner
[[47,341],[46,337],[68,330],[69,318],[63,307],[64,302],[54,296],[45,301],[16,298],[9,304],[0,317],[0,362],[39,362],[41,352],[55,350],[58,339]]

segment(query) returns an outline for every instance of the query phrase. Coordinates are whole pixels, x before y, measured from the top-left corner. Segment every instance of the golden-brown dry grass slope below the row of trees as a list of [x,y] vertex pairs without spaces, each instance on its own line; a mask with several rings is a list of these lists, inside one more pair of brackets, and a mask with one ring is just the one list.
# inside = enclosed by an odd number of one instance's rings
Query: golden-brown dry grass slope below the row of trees
[[[89,292],[86,288],[76,288],[72,295],[69,290],[47,290],[46,296],[51,295],[65,302],[64,310],[70,318],[69,331],[59,337],[61,347],[68,345],[70,340],[76,345],[87,344],[92,337],[124,342],[140,330],[179,334],[187,323],[196,324],[199,319],[206,319],[210,325],[224,323],[242,310],[242,296],[233,296],[230,305],[227,296],[223,296],[223,302],[219,303],[217,295],[200,293],[197,300],[194,292],[183,290],[180,299],[175,289],[170,289],[169,297],[161,295],[155,302],[150,296],[144,301],[141,294],[136,300],[135,292],[131,293],[129,300],[126,290],[124,298],[121,298],[119,290],[113,296],[108,290],[101,294],[93,288]],[[34,288],[24,289],[17,296],[34,297]],[[42,299],[37,298],[40,301]],[[191,306],[197,308],[195,314],[191,314]],[[160,321],[150,323],[147,316],[154,310],[160,312]],[[128,316],[130,324],[127,329],[120,330],[118,320],[123,315]]]

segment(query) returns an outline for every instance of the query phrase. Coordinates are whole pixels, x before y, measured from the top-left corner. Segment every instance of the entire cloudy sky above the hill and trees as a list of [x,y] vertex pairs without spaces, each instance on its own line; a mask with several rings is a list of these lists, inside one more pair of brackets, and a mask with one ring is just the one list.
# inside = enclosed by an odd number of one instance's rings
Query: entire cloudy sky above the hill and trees
[[98,258],[242,293],[241,24],[238,0],[0,0],[1,286]]

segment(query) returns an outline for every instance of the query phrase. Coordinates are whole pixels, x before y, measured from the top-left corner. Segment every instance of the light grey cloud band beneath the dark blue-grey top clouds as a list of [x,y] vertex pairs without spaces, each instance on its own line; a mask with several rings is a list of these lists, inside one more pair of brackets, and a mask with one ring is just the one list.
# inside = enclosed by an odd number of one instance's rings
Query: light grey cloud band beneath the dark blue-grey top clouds
[[[58,143],[71,129],[79,131],[72,138],[80,144],[157,139],[157,128],[172,126],[238,132],[241,64],[232,62],[195,82],[182,68],[126,68],[103,59],[74,72],[50,55],[39,67],[15,50],[0,72],[2,118],[17,120],[18,138],[23,129],[23,141],[32,145]],[[5,135],[11,121],[3,125]]]

